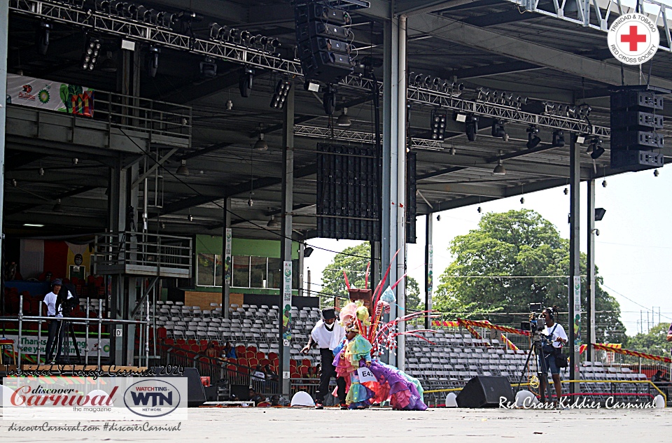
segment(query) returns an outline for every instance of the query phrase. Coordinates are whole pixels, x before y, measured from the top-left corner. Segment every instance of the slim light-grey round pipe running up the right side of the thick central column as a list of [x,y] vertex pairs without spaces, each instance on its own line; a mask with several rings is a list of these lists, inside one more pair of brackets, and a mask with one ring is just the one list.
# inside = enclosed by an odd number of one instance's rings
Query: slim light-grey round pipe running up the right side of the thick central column
[[[406,15],[399,17],[399,56],[398,56],[398,75],[397,80],[399,96],[397,101],[397,244],[399,251],[397,255],[397,275],[400,279],[406,274]],[[397,286],[397,306],[400,309],[406,307],[406,281],[402,279]],[[397,316],[405,316],[406,312],[402,310],[397,312]],[[406,330],[406,323],[398,325],[399,332]],[[400,370],[405,370],[406,361],[406,336],[397,337],[397,366]]]

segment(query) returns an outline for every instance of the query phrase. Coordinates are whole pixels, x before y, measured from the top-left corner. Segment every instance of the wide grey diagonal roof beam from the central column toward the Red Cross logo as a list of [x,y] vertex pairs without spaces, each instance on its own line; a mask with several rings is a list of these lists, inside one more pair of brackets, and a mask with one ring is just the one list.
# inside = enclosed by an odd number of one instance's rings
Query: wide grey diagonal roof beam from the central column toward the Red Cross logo
[[[457,22],[440,15],[414,15],[409,17],[409,37],[429,34],[434,38],[460,43],[470,48],[505,55],[513,59],[545,66],[577,77],[589,78],[610,85],[621,84],[621,67],[570,52],[538,45],[521,38],[499,34],[472,24]],[[638,83],[639,73],[624,70],[626,83]],[[672,89],[672,81],[652,77],[654,86]]]

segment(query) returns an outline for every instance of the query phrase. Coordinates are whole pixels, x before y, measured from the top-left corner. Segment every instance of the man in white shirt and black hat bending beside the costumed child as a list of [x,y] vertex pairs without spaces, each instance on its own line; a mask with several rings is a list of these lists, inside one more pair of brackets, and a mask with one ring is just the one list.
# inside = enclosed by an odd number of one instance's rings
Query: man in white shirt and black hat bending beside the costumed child
[[[334,348],[337,347],[345,337],[345,329],[336,321],[336,312],[334,308],[322,310],[322,319],[318,321],[310,332],[308,344],[301,350],[302,353],[308,353],[313,344],[320,349],[322,360],[320,373],[320,386],[315,393],[316,409],[323,409],[324,397],[329,391],[329,380],[336,377],[336,368],[334,362]],[[336,386],[338,400],[341,409],[347,409],[345,405],[345,380],[343,377],[336,377]]]

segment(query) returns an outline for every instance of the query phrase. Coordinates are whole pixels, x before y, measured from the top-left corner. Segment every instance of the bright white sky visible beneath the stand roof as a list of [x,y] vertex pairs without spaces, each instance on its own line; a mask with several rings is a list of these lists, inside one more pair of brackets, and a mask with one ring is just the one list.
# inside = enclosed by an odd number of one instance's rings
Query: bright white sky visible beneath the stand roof
[[[628,335],[635,335],[649,325],[672,322],[672,235],[667,232],[672,220],[672,167],[628,172],[596,181],[596,207],[606,209],[603,220],[595,223],[600,234],[596,237],[595,264],[603,276],[603,289],[615,297],[621,306],[622,321]],[[480,205],[435,213],[434,219],[434,275],[437,277],[453,260],[450,241],[457,235],[467,234],[478,227],[482,213],[505,212],[510,209],[533,209],[553,223],[561,237],[569,238],[569,195],[563,188],[552,188],[520,196],[499,199]],[[580,249],[587,250],[587,185],[581,184],[580,195]],[[418,281],[424,293],[425,217],[416,225],[418,243],[408,245],[408,274]],[[307,244],[343,251],[360,241],[311,239]],[[311,271],[311,290],[321,290],[322,270],[333,260],[335,253],[315,249],[305,259],[304,276]],[[305,280],[305,279],[304,279]],[[655,311],[655,314],[652,312]],[[659,314],[660,313],[660,314]],[[647,314],[649,316],[647,323]],[[640,322],[640,318],[643,321]]]

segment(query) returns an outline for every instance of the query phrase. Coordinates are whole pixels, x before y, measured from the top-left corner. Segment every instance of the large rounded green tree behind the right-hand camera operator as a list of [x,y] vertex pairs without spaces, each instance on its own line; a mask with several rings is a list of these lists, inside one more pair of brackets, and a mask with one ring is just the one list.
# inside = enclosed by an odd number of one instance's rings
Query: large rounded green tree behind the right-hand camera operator
[[[568,308],[569,241],[539,213],[528,209],[485,214],[479,226],[455,237],[450,252],[455,257],[440,276],[433,306],[451,316],[488,318],[493,323],[518,325],[530,303]],[[586,258],[581,255],[581,274]],[[596,269],[597,274],[597,269]],[[601,288],[596,276],[598,342],[622,342],[624,326],[618,302]],[[582,310],[587,306],[582,282]],[[516,316],[504,313],[520,313]],[[568,318],[559,321],[568,326]],[[585,340],[586,320],[582,321]]]

